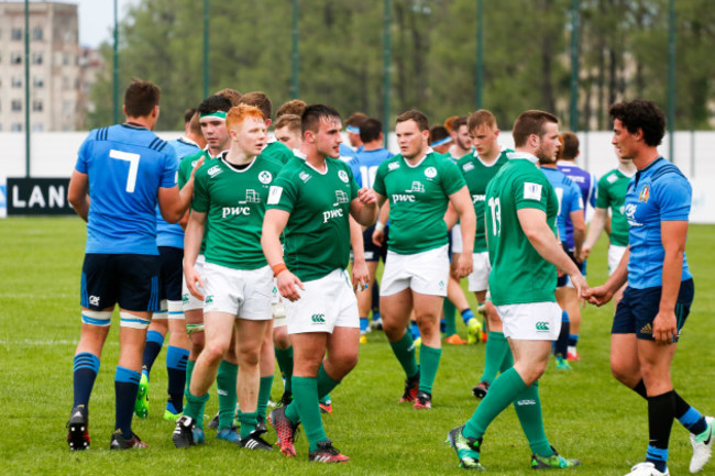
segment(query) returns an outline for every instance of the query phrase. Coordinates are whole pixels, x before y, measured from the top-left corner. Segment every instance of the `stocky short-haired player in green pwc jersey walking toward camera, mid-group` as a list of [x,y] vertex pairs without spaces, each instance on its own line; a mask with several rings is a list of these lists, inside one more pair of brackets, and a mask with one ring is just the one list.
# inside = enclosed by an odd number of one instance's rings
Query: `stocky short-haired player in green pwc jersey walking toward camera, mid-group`
[[[475,215],[457,165],[427,145],[427,117],[407,111],[397,117],[395,131],[400,154],[380,165],[373,184],[380,206],[389,203],[391,223],[380,309],[407,377],[400,402],[429,409],[442,353],[439,318],[450,272],[444,214],[451,203],[462,224],[460,278],[472,272]],[[419,366],[413,336],[406,332],[413,310],[422,340]]]

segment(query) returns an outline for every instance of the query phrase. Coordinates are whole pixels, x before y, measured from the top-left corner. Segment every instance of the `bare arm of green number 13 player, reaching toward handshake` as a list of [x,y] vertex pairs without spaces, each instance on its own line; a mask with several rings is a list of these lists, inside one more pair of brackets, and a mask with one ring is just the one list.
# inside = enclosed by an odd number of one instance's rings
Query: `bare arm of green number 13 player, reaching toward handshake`
[[543,259],[557,268],[563,269],[569,275],[573,286],[576,288],[579,298],[584,296],[588,288],[586,280],[581,275],[576,265],[563,251],[553,231],[549,228],[546,213],[535,208],[524,208],[517,210],[517,217],[519,218],[521,230],[524,230],[524,234],[526,234],[531,246],[534,246]]

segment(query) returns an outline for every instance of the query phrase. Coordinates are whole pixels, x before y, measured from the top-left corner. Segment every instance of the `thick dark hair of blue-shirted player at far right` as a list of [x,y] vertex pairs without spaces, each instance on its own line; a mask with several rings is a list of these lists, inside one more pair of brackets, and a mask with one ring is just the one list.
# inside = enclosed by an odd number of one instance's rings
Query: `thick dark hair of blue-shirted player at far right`
[[644,141],[651,147],[660,145],[666,135],[666,114],[652,101],[635,99],[617,102],[610,106],[608,114],[612,120],[619,120],[631,134],[641,129]]

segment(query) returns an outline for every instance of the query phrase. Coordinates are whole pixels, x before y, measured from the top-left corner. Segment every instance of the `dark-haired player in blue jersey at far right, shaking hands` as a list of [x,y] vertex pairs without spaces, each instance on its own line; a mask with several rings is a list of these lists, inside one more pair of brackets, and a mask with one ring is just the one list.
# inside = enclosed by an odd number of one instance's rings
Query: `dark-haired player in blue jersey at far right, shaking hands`
[[691,433],[690,472],[710,460],[713,418],[704,417],[673,389],[671,363],[678,337],[693,302],[693,276],[685,257],[692,189],[678,167],[658,153],[666,117],[651,101],[634,100],[610,107],[612,143],[638,173],[628,186],[625,212],[628,251],[608,280],[585,294],[602,306],[628,281],[616,309],[610,337],[614,376],[648,400],[646,461],[629,476],[663,476],[673,419]]

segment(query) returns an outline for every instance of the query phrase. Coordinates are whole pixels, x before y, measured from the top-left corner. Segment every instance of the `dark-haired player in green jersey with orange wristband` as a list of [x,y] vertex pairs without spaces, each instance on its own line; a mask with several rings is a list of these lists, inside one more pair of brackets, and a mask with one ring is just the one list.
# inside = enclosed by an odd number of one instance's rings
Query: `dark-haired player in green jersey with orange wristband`
[[[345,269],[351,237],[362,240],[362,233],[349,218],[362,225],[377,218],[374,191],[359,190],[350,166],[339,159],[340,129],[340,114],[329,106],[310,104],[302,112],[305,160],[289,162],[275,179],[261,237],[285,298],[294,352],[294,398],[271,412],[271,422],[286,456],[295,456],[294,436],[302,423],[308,457],[320,463],[349,460],[327,438],[318,406],[358,363],[358,301]],[[285,250],[279,240],[284,231]],[[355,284],[364,287],[364,256],[362,261],[363,273]]]

